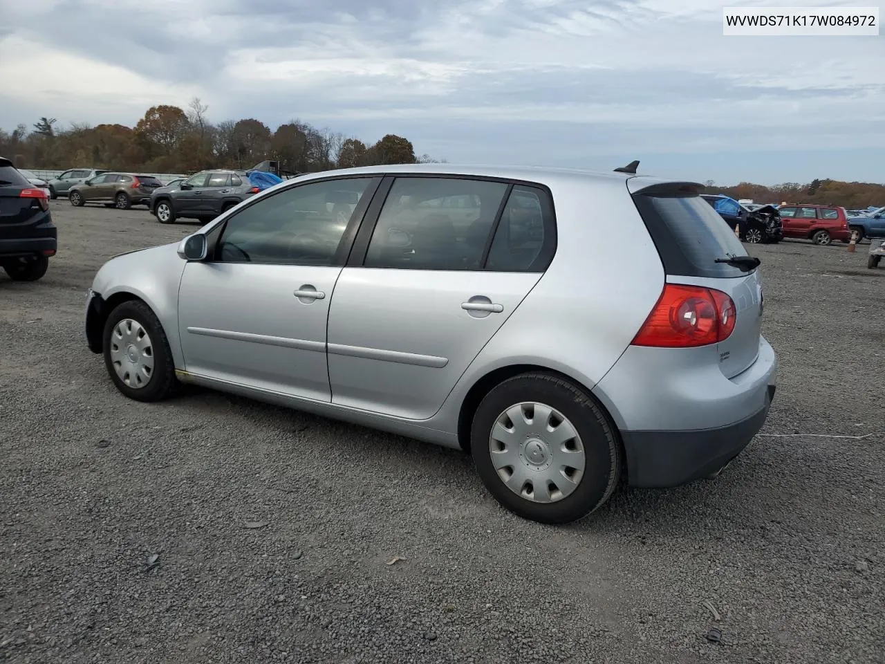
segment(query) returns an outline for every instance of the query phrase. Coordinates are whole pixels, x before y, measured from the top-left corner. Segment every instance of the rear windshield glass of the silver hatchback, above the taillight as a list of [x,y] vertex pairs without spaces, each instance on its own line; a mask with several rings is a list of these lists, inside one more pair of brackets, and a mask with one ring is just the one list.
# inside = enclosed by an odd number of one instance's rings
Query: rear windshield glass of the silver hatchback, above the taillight
[[717,263],[747,256],[726,220],[699,196],[636,194],[636,207],[658,247],[667,274],[695,277],[746,276],[735,266]]

